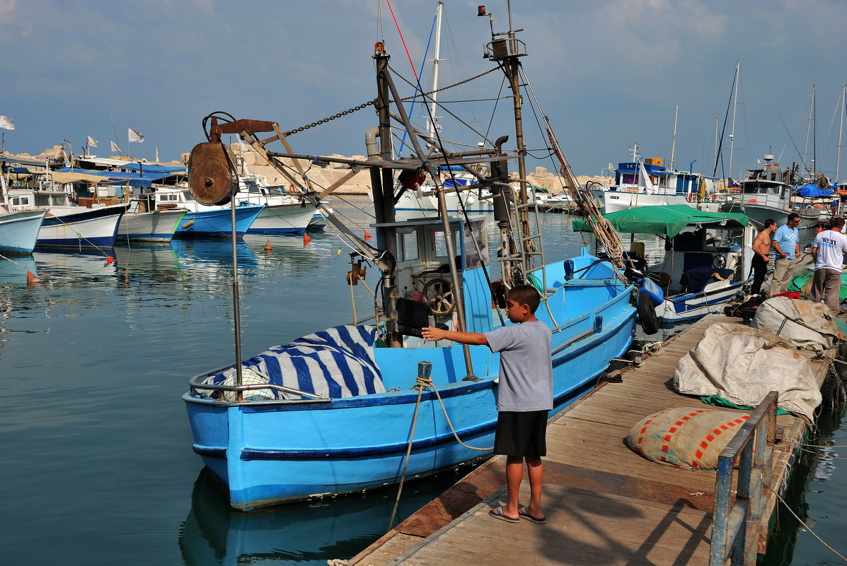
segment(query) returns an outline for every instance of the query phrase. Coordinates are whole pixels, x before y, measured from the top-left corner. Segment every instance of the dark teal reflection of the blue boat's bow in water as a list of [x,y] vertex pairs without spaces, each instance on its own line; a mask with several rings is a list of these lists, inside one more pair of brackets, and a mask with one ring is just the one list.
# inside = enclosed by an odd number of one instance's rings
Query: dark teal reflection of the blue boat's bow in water
[[[399,516],[406,518],[455,481],[450,474],[407,484]],[[180,552],[186,566],[326,564],[331,558],[351,558],[385,533],[395,497],[394,489],[386,489],[244,513],[230,508],[224,491],[203,469],[180,528]]]

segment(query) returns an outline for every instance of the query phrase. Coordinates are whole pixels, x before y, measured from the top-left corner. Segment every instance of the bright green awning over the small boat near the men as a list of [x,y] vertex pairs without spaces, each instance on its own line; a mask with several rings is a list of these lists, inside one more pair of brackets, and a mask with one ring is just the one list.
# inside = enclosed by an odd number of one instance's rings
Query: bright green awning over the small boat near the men
[[[750,221],[739,212],[698,211],[688,205],[637,206],[625,211],[603,215],[618,232],[634,234],[664,234],[668,238],[682,232],[689,224],[711,224],[721,226],[747,226]],[[590,232],[590,224],[584,218],[574,218],[573,230]]]

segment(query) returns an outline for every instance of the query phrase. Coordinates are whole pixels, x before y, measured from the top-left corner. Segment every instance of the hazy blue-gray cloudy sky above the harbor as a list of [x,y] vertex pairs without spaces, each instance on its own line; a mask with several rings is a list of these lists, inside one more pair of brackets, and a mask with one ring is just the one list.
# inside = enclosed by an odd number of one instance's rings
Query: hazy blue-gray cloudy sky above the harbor
[[[0,0],[0,114],[16,126],[0,130],[4,149],[36,154],[69,140],[78,153],[90,135],[100,142],[91,153],[101,157],[115,141],[133,157],[152,160],[158,150],[162,161],[179,159],[205,141],[202,118],[214,111],[295,129],[374,98],[375,41],[385,41],[404,96],[413,92],[404,82],[414,80],[409,58],[419,70],[429,44],[420,75],[429,91],[435,5]],[[492,68],[482,57],[489,20],[477,17],[478,5],[445,0],[439,86]],[[495,32],[508,30],[507,0],[485,6]],[[843,165],[836,159],[845,24],[844,0],[512,0],[529,84],[574,171],[587,175],[630,161],[634,144],[642,157],[663,157],[667,165],[673,152],[676,168],[711,174],[717,126],[724,140],[718,177],[728,175],[730,156],[732,176],[739,176],[772,153],[783,165],[802,160],[830,177],[839,167],[847,179],[847,151]],[[502,96],[501,81],[496,71],[439,100],[490,139],[513,140],[513,126],[490,118],[495,108],[509,109],[508,101],[492,100]],[[470,100],[479,102],[457,102]],[[423,110],[411,111],[418,123]],[[555,170],[556,162],[543,158],[536,117],[525,107],[537,157],[530,166]],[[363,155],[364,131],[375,124],[368,107],[293,135],[291,145],[304,154]],[[452,118],[441,127],[451,140],[481,140],[460,132]],[[144,142],[128,143],[129,128]]]

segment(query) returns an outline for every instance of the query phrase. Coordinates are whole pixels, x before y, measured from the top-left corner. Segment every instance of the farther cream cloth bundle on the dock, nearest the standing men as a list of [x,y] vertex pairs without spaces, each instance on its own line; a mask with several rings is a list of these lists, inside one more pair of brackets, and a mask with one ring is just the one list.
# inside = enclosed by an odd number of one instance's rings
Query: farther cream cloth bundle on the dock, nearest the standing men
[[827,305],[788,297],[767,299],[756,309],[750,326],[817,352],[832,348],[841,334]]

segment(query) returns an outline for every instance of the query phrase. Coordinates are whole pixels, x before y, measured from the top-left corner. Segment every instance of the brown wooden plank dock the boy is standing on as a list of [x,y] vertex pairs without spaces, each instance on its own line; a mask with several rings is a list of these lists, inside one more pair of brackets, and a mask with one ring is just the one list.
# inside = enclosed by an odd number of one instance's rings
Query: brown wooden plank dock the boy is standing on
[[[544,459],[545,525],[491,519],[506,502],[505,458],[497,456],[397,525],[349,560],[359,566],[479,566],[479,564],[705,565],[715,492],[714,470],[680,470],[655,464],[624,444],[631,426],[671,407],[701,405],[671,387],[678,360],[717,321],[710,315],[669,338],[623,382],[601,382],[551,419]],[[819,363],[818,382],[827,375]],[[772,492],[768,494],[759,552],[767,541],[767,518],[788,481],[804,420],[777,420]],[[523,482],[521,501],[529,501]]]

